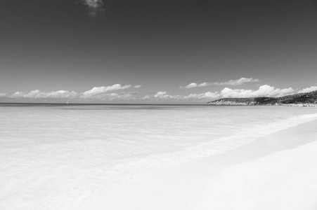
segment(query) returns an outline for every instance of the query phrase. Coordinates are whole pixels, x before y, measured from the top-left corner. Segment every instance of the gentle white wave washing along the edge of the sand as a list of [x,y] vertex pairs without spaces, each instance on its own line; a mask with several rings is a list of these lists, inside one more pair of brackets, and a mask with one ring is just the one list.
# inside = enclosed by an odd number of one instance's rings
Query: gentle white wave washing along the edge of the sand
[[[214,139],[198,146],[186,148],[183,151],[160,155],[149,155],[147,158],[131,158],[127,160],[127,162],[122,162],[122,164],[109,169],[109,173],[116,174],[119,172],[119,174],[124,174],[119,176],[119,179],[118,177],[115,177],[115,179],[112,180],[112,183],[120,183],[124,180],[131,179],[133,176],[151,172],[154,169],[178,165],[184,162],[198,160],[200,158],[207,158],[211,155],[226,153],[227,151],[231,151],[239,146],[256,141],[259,137],[264,137],[280,130],[286,130],[290,127],[301,125],[302,123],[309,123],[313,120],[317,120],[317,114],[296,116],[280,120],[276,123],[271,123],[271,125],[261,125],[260,127],[248,132],[240,132],[230,137]],[[134,174],[131,172],[134,172]]]

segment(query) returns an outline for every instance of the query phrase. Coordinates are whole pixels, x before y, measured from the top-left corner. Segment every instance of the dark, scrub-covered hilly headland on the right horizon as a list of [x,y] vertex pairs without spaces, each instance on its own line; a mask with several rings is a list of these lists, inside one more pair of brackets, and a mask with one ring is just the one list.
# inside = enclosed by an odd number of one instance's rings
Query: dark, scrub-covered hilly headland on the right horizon
[[317,90],[313,92],[290,94],[284,97],[223,98],[208,102],[207,104],[317,106]]

